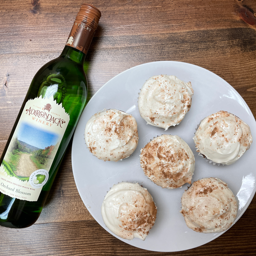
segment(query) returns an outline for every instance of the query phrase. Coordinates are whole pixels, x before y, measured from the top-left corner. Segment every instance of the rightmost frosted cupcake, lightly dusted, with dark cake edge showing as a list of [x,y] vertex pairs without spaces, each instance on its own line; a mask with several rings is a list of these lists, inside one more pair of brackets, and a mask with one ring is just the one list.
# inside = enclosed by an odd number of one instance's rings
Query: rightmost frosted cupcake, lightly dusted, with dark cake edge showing
[[214,163],[232,164],[250,148],[250,127],[226,111],[214,113],[200,122],[193,137],[196,151]]

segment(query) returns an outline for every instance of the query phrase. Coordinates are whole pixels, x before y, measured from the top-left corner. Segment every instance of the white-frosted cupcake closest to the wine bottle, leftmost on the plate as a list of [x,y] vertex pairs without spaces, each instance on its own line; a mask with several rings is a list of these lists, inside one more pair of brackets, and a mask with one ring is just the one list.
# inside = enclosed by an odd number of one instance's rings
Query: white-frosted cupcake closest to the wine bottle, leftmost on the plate
[[104,161],[128,158],[138,145],[137,123],[132,115],[116,109],[93,115],[85,127],[90,152]]

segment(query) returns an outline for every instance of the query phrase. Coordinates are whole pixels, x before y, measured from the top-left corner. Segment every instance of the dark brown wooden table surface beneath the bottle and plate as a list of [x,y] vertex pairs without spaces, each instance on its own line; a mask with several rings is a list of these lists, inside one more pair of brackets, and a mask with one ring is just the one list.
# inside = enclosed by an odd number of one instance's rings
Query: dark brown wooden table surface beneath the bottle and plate
[[[64,48],[81,0],[0,0],[0,154],[36,71]],[[226,80],[256,117],[255,0],[91,0],[102,14],[87,55],[90,96],[138,64],[180,61]],[[0,226],[1,256],[256,255],[256,196],[238,222],[198,248],[174,253],[132,247],[84,206],[71,146],[31,227]]]

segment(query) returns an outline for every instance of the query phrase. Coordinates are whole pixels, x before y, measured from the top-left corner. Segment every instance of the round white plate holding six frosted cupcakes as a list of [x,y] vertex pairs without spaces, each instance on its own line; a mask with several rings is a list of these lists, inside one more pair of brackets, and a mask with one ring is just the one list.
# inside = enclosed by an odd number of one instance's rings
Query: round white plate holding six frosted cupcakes
[[[191,81],[194,90],[192,107],[184,120],[167,131],[151,125],[140,117],[138,93],[145,81],[153,75],[176,75]],[[134,153],[118,162],[98,160],[87,149],[84,129],[87,121],[103,109],[119,109],[132,114],[138,124],[139,143]],[[189,184],[175,190],[162,189],[151,182],[140,167],[140,149],[161,134],[178,135],[191,147],[195,156],[192,182],[205,177],[218,177],[226,182],[237,198],[239,210],[236,221],[250,204],[255,192],[256,143],[234,164],[213,165],[198,156],[192,137],[200,121],[217,111],[228,111],[246,122],[256,138],[256,122],[243,98],[218,75],[202,67],[182,62],[153,62],[132,67],[108,81],[91,98],[84,109],[74,133],[72,143],[72,168],[78,192],[95,220],[120,240],[146,250],[177,252],[208,243],[222,233],[203,234],[194,232],[185,224],[180,213],[181,197]],[[158,207],[157,219],[145,241],[134,238],[129,241],[113,234],[101,218],[100,208],[107,191],[119,182],[138,182],[154,198]],[[252,227],[252,228],[255,228]]]

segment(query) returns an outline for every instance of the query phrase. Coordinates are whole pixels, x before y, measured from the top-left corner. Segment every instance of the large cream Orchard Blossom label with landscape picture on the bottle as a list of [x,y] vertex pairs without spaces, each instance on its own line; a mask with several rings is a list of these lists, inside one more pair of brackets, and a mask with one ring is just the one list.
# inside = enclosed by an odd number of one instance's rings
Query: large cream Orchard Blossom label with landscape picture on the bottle
[[68,122],[53,96],[27,101],[0,165],[0,192],[37,201]]

